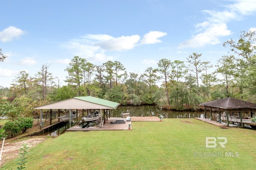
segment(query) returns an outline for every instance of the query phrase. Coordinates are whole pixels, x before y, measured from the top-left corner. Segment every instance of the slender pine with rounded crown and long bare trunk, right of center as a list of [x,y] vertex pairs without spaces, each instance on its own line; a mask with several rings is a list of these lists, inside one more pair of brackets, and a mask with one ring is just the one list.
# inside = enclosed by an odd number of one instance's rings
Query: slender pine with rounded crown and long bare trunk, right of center
[[164,79],[164,86],[166,90],[166,97],[167,97],[167,102],[170,105],[170,99],[169,99],[169,92],[168,92],[168,81],[167,78],[170,77],[170,69],[172,68],[172,62],[168,59],[161,59],[157,63],[158,65],[158,72],[162,74],[160,77],[161,79]]

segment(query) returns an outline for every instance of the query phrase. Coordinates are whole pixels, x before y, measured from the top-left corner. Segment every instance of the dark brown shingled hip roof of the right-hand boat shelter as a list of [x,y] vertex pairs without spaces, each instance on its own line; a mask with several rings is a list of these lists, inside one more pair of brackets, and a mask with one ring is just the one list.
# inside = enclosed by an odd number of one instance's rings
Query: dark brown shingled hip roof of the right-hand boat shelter
[[256,104],[235,98],[224,98],[211,102],[201,103],[200,105],[216,110],[223,111],[256,111]]

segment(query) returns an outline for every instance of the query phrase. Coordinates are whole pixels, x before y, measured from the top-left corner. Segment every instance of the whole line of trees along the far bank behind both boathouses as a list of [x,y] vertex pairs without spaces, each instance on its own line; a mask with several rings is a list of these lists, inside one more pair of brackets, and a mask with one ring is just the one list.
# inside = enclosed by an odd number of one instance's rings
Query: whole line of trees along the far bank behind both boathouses
[[0,102],[26,101],[24,109],[31,109],[74,96],[94,96],[123,105],[156,104],[178,110],[197,109],[202,102],[225,97],[256,102],[256,33],[242,31],[238,36],[223,43],[230,55],[220,57],[215,67],[203,54],[192,53],[186,61],[161,59],[156,68],[139,74],[127,72],[119,61],[94,65],[74,56],[64,68],[67,85],[60,86],[50,72],[51,64],[43,64],[34,76],[21,71],[10,88],[0,86]]

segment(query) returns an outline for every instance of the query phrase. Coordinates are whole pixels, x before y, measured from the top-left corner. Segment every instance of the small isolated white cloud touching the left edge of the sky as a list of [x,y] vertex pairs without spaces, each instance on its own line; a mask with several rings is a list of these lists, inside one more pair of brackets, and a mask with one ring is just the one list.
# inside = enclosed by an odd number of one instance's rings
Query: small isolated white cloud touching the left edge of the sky
[[12,41],[13,39],[18,38],[23,34],[24,31],[22,31],[21,29],[10,26],[3,31],[0,31],[0,41]]

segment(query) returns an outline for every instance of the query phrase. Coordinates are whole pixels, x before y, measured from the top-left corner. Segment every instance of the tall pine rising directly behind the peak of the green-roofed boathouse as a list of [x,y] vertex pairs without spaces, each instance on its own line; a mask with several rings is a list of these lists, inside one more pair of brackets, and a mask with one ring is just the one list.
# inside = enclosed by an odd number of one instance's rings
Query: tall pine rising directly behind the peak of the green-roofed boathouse
[[66,76],[65,82],[76,86],[76,94],[78,96],[81,95],[80,85],[83,79],[82,64],[85,62],[85,59],[75,56],[69,63],[68,67],[64,70],[68,72],[68,76]]

